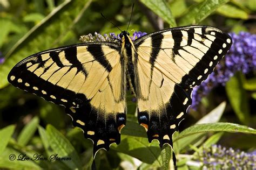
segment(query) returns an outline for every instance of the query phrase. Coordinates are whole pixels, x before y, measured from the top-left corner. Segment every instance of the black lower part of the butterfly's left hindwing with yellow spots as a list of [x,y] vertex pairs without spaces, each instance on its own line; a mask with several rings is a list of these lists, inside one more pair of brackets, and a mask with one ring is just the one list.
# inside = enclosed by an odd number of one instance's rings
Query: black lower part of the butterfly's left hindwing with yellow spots
[[66,108],[74,126],[84,131],[85,138],[93,141],[93,158],[100,149],[109,150],[112,143],[120,143],[120,132],[126,123],[125,113],[106,114],[85,104],[81,108]]

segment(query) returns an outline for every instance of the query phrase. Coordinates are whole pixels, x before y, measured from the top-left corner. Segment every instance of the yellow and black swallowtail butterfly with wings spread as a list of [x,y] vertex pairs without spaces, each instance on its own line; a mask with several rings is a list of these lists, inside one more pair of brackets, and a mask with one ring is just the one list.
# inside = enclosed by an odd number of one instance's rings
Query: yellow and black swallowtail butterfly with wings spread
[[129,83],[149,142],[157,139],[161,147],[173,146],[172,134],[192,103],[193,87],[213,72],[232,39],[200,25],[160,30],[134,41],[122,31],[120,38],[30,55],[12,68],[8,81],[63,105],[73,125],[93,141],[94,155],[120,143]]

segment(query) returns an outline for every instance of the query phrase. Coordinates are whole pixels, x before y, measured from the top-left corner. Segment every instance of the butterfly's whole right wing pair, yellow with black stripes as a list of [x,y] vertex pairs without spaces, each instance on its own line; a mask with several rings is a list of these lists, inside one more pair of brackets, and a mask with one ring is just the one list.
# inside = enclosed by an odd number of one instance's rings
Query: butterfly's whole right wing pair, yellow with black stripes
[[172,146],[172,134],[191,105],[192,88],[207,78],[231,44],[228,34],[208,26],[161,30],[134,41],[138,121],[150,142]]

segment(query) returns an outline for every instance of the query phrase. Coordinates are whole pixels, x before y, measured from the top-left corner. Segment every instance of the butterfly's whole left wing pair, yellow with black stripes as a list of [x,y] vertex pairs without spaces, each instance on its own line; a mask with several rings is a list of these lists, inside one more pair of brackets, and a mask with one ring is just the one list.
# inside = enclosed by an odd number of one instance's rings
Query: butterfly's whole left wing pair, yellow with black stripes
[[120,143],[125,125],[125,70],[117,44],[95,42],[50,49],[19,62],[14,86],[64,105],[73,125],[94,143],[94,154]]

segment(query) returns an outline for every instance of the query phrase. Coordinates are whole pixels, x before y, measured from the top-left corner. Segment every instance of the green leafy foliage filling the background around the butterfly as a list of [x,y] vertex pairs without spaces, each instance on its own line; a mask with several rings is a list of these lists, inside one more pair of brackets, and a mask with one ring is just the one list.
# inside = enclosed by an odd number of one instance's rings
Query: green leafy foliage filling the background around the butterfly
[[[134,5],[129,31],[150,33],[155,31],[154,24],[166,22],[162,26],[202,24],[226,32],[255,33],[253,3],[254,0],[141,0]],[[82,130],[71,126],[64,109],[9,86],[6,76],[18,61],[33,53],[78,43],[83,34],[119,33],[100,12],[126,30],[131,7],[132,1],[114,0],[0,1],[0,168],[91,168],[92,143],[84,138]],[[197,110],[190,111],[180,124],[180,132],[173,135],[178,169],[200,169],[204,159],[198,155],[217,143],[244,152],[256,150],[255,80],[255,70],[236,73],[204,97]],[[156,141],[149,143],[134,116],[136,105],[132,98],[127,96],[127,123],[121,143],[111,145],[109,152],[100,150],[96,167],[173,168],[172,149],[159,148]]]

